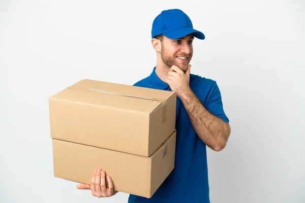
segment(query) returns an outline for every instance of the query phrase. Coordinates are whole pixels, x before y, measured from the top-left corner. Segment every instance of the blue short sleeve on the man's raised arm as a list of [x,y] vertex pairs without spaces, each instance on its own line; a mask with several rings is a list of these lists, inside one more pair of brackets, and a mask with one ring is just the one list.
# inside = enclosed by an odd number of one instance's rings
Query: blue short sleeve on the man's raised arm
[[221,118],[223,121],[229,123],[229,118],[226,116],[224,109],[223,109],[223,103],[222,103],[222,97],[220,89],[216,82],[211,86],[208,100],[206,103],[206,109],[213,115]]

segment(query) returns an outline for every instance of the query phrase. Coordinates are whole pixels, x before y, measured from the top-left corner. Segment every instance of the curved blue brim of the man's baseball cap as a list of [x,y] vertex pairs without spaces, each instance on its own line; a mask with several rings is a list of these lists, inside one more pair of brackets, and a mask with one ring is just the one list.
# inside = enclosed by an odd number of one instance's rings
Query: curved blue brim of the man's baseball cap
[[164,32],[163,35],[169,39],[180,39],[187,35],[193,34],[195,38],[204,40],[205,36],[201,31],[193,29],[191,27],[181,27],[172,31]]

